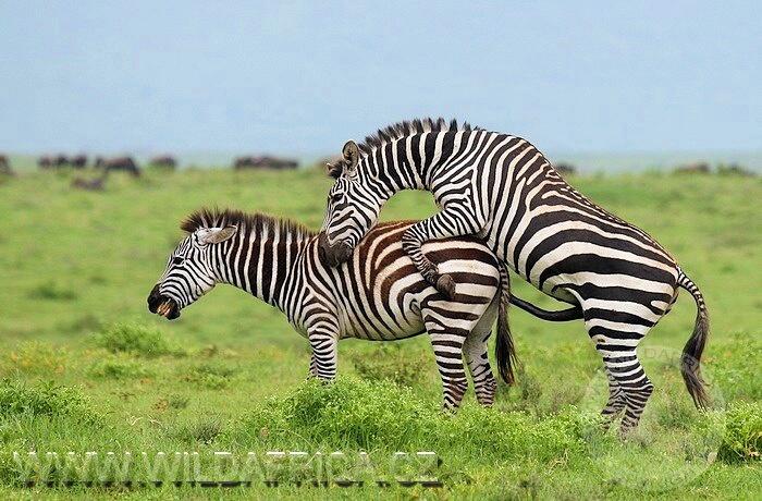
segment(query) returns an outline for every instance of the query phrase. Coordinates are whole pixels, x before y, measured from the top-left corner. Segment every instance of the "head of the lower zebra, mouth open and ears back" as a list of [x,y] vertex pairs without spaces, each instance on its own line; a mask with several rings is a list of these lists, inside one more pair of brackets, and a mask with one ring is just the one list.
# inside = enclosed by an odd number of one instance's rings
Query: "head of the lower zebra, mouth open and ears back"
[[236,232],[237,227],[200,228],[183,239],[148,294],[148,310],[173,320],[181,309],[211,291],[218,282],[213,267],[220,257],[218,244]]

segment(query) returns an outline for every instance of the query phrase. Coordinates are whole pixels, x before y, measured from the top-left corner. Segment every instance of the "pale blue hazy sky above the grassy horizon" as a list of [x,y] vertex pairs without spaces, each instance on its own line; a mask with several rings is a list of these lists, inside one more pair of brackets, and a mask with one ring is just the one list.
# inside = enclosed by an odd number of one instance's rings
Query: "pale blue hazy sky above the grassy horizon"
[[418,115],[762,149],[761,4],[0,0],[0,149],[304,155]]

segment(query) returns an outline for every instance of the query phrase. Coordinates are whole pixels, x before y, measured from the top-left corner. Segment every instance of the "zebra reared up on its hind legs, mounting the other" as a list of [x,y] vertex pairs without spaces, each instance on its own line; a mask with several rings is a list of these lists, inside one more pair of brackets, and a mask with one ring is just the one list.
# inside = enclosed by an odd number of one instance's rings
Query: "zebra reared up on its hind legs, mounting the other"
[[426,119],[388,126],[361,144],[349,140],[342,154],[328,166],[335,182],[321,242],[330,264],[346,259],[392,195],[429,191],[441,210],[410,225],[402,237],[428,283],[451,297],[457,280],[421,246],[434,239],[475,235],[502,266],[580,308],[609,378],[602,414],[611,424],[624,413],[623,435],[637,427],[653,392],[637,356],[638,343],[669,311],[678,288],[686,289],[698,313],[680,370],[696,406],[708,405],[699,362],[709,313],[698,286],[655,240],[577,192],[529,142]]

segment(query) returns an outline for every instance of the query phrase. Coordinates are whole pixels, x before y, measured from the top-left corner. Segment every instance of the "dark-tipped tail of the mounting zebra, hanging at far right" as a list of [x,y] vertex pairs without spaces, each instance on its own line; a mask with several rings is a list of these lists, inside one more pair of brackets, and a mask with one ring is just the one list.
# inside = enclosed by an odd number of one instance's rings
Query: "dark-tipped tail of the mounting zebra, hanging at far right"
[[693,333],[683,349],[680,372],[686,382],[688,393],[690,393],[691,399],[693,399],[693,404],[696,404],[698,408],[706,408],[709,406],[709,396],[706,395],[704,381],[701,378],[701,354],[704,351],[706,339],[709,338],[709,310],[706,309],[704,297],[701,291],[699,291],[699,288],[683,272],[683,270],[678,269],[678,271],[677,284],[693,296],[697,306]]

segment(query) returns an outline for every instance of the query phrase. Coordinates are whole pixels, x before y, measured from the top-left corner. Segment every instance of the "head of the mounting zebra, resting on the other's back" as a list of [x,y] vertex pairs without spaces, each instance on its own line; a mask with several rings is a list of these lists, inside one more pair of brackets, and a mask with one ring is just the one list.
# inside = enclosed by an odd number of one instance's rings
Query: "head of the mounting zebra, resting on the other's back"
[[360,151],[354,140],[344,145],[343,159],[329,164],[329,174],[336,181],[328,194],[328,209],[319,237],[320,256],[330,266],[339,266],[352,256],[362,236],[376,224],[383,203],[389,197],[376,190],[367,174],[358,169]]

